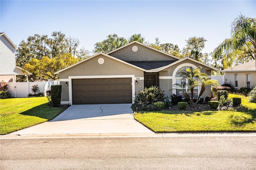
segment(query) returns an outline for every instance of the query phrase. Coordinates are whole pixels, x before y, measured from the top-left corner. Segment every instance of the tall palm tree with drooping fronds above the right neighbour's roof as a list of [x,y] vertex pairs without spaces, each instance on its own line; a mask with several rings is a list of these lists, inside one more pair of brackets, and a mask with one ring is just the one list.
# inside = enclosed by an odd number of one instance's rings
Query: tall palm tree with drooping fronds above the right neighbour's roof
[[[248,57],[256,59],[256,18],[247,18],[240,14],[240,16],[234,19],[231,37],[224,40],[214,49],[213,57],[215,59],[220,59],[222,55],[227,55],[228,58],[234,57],[232,52],[234,53],[236,50],[246,51],[245,56],[247,57],[244,61],[248,61]],[[237,53],[236,55],[240,56],[243,54]]]

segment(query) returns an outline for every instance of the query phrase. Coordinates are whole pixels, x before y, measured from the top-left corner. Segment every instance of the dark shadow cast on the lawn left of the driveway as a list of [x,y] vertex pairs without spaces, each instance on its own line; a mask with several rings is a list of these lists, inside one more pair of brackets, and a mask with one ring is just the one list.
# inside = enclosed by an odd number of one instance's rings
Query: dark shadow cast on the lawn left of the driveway
[[20,113],[21,115],[40,117],[50,121],[62,113],[66,108],[64,107],[50,107],[48,103],[33,107],[27,111]]

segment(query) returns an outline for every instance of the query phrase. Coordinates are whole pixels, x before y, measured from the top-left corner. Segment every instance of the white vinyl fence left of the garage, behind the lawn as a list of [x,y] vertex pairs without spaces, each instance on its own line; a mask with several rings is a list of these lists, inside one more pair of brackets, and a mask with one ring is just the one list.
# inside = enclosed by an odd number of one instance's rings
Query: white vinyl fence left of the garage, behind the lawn
[[42,82],[8,82],[7,87],[12,97],[27,97],[32,93],[31,87],[38,85],[40,93],[46,95],[46,91],[51,89],[51,85],[59,85],[60,81],[42,81]]

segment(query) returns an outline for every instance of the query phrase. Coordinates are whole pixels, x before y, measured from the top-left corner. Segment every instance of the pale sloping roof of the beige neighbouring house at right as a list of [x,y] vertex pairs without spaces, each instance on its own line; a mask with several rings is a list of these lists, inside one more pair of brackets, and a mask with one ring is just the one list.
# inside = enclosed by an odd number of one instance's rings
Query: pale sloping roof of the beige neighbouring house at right
[[232,68],[224,69],[223,72],[229,71],[256,71],[256,60],[252,60],[240,65],[236,65]]

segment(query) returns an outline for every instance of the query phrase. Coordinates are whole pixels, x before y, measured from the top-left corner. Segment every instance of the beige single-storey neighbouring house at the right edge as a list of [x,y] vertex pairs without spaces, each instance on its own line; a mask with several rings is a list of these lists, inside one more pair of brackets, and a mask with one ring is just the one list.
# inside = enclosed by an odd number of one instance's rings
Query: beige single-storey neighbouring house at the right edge
[[222,71],[224,72],[225,81],[231,83],[236,89],[241,87],[253,88],[256,86],[256,60]]

